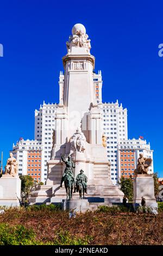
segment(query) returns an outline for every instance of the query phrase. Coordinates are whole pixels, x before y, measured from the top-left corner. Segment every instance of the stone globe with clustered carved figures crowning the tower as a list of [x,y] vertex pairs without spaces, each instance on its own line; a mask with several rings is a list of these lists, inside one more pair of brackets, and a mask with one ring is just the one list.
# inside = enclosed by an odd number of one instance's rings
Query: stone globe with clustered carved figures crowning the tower
[[69,36],[69,41],[66,42],[67,51],[70,52],[72,46],[74,47],[84,47],[87,48],[88,52],[90,51],[91,44],[90,39],[88,39],[86,34],[85,27],[78,23],[72,28],[72,35]]

